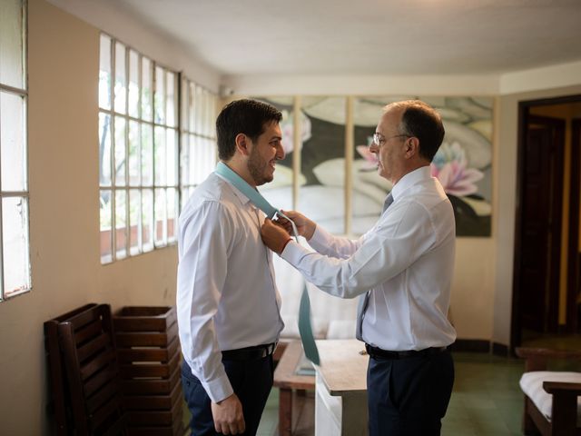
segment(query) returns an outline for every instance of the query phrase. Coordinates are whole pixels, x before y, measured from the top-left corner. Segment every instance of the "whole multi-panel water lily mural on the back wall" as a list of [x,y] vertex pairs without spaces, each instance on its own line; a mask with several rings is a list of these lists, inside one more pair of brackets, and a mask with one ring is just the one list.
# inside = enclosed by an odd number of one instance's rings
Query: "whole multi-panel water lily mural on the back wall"
[[[492,194],[492,98],[355,97],[352,183],[345,186],[346,97],[302,97],[300,104],[300,172],[294,207],[331,233],[361,234],[377,221],[391,183],[377,174],[369,153],[371,135],[381,108],[394,101],[419,98],[441,114],[444,143],[432,164],[432,175],[444,186],[454,207],[458,236],[489,236]],[[261,187],[271,203],[293,207],[293,97],[261,98],[283,112],[281,124],[286,157],[273,183]],[[345,228],[345,189],[350,189],[351,228]]]

